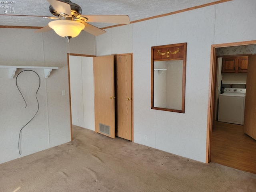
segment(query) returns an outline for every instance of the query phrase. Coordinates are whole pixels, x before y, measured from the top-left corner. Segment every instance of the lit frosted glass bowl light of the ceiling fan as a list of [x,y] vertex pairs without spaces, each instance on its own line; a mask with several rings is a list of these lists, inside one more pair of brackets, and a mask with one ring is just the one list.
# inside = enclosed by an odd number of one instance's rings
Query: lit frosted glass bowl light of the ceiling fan
[[84,29],[84,24],[72,20],[51,21],[48,25],[61,37],[76,37]]

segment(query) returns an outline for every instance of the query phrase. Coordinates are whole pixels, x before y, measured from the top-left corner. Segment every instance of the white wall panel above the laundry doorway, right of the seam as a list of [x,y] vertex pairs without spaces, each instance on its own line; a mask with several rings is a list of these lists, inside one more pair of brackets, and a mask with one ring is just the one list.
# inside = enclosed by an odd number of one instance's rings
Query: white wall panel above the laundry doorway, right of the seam
[[255,7],[254,0],[218,4],[214,44],[255,40]]

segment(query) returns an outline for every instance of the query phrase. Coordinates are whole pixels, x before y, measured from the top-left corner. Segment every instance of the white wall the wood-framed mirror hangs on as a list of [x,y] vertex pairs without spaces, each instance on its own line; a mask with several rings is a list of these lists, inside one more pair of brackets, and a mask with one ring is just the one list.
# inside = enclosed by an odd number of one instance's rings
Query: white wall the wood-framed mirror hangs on
[[[134,142],[206,162],[211,45],[255,40],[255,7],[255,0],[233,0],[110,28],[96,38],[98,56],[134,53]],[[151,46],[183,42],[188,43],[185,114],[152,110]]]

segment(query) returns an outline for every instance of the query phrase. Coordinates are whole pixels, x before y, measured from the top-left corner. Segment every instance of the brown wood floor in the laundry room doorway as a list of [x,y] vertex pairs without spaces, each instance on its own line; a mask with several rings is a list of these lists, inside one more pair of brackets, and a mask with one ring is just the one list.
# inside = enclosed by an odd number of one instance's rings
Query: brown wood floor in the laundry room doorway
[[214,122],[211,162],[256,174],[256,140],[244,134],[243,126]]

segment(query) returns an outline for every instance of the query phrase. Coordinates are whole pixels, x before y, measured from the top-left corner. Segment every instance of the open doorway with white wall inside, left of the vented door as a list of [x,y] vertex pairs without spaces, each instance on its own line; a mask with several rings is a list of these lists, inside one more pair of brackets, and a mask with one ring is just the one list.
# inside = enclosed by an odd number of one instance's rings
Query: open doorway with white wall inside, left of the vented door
[[[93,55],[67,54],[72,125],[94,130]],[[72,137],[71,137],[72,139]]]

